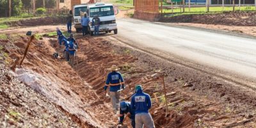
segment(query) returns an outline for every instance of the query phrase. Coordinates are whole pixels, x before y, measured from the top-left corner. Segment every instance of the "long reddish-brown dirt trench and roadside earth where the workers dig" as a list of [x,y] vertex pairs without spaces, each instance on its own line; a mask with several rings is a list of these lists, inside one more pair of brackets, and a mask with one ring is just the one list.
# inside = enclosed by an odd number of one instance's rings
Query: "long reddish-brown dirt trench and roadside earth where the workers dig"
[[[77,127],[116,126],[118,117],[112,113],[103,90],[108,68],[113,64],[120,67],[127,86],[122,99],[129,100],[136,84],[142,84],[143,90],[151,95],[150,113],[156,127],[255,127],[256,98],[252,90],[170,63],[108,36],[75,37],[79,51],[74,68],[61,58],[53,58],[53,52],[59,52],[61,57],[63,50],[56,47],[55,37],[43,38],[33,41],[15,77],[56,104],[54,109],[60,109]],[[23,54],[28,40],[26,36],[10,35],[0,42],[14,61]],[[168,113],[162,107],[162,72]],[[31,76],[40,84],[22,79],[22,75]],[[125,124],[130,127],[129,120]]]

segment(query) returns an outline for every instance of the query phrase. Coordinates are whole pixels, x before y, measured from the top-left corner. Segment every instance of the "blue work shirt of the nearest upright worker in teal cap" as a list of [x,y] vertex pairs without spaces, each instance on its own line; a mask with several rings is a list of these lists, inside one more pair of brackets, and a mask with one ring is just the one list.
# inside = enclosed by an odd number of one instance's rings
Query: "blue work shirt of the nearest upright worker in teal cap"
[[151,99],[147,93],[139,89],[131,99],[131,108],[135,109],[135,113],[148,113],[151,108]]

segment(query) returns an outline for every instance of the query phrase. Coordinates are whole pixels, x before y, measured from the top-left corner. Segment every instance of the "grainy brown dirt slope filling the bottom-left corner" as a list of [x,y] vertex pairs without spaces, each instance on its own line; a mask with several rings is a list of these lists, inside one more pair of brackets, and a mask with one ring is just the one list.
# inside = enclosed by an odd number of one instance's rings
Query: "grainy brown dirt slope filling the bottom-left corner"
[[1,127],[78,127],[49,99],[15,78],[0,64]]

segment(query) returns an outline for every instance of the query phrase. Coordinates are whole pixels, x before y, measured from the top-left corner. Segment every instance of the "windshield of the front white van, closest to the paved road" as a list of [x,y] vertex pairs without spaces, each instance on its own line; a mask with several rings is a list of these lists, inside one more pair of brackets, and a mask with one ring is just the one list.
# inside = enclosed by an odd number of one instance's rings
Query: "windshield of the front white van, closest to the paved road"
[[113,6],[100,6],[90,8],[90,17],[94,17],[94,15],[98,15],[98,17],[114,15]]

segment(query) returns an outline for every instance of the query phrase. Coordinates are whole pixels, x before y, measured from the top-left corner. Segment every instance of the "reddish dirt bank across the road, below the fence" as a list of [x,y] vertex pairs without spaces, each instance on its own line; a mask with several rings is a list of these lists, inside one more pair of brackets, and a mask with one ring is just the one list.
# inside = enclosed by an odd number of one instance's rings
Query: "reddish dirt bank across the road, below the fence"
[[255,12],[230,12],[213,14],[179,15],[161,17],[161,22],[191,22],[200,24],[220,24],[227,26],[256,26]]

